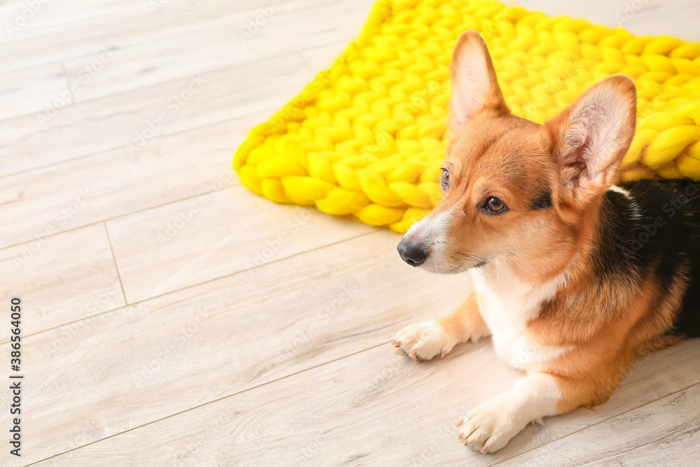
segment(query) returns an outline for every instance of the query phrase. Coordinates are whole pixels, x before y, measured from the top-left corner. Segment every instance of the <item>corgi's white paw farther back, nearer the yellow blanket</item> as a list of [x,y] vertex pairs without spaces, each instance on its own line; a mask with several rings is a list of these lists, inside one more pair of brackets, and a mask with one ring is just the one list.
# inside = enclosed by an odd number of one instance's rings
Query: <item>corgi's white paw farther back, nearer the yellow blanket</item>
[[456,344],[435,321],[412,324],[404,328],[393,341],[393,346],[416,360],[430,360],[436,355],[444,356]]

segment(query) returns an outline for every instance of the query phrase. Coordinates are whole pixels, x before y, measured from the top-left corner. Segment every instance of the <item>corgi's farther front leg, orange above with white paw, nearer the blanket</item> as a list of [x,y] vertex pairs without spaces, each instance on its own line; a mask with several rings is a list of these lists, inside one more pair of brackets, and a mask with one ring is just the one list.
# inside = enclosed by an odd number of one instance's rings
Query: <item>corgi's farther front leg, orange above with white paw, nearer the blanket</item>
[[393,341],[404,354],[416,360],[444,356],[460,342],[489,335],[474,293],[446,316],[404,328]]

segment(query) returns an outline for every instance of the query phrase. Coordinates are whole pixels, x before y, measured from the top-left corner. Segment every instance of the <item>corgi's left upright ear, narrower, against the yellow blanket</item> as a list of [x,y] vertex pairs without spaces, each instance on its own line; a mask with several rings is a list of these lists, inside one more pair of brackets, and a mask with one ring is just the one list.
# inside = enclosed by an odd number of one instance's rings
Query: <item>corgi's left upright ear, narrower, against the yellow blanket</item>
[[484,110],[509,113],[496,81],[491,55],[478,32],[471,30],[461,35],[452,54],[449,74],[452,91],[447,125],[451,134]]

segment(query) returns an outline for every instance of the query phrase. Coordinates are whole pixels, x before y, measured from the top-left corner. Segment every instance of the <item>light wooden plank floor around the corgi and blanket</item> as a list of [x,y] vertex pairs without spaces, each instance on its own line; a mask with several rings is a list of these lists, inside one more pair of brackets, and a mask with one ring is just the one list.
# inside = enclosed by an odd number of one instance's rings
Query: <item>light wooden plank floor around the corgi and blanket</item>
[[[388,342],[456,305],[465,277],[407,267],[392,232],[240,185],[246,130],[370,3],[279,0],[244,42],[270,0],[0,1],[3,365],[13,295],[25,336],[22,457],[1,384],[1,465],[699,465],[700,342],[497,454],[463,447],[456,421],[519,373],[489,340],[421,364]],[[632,32],[700,41],[696,1],[524,4],[613,26],[631,12]]]

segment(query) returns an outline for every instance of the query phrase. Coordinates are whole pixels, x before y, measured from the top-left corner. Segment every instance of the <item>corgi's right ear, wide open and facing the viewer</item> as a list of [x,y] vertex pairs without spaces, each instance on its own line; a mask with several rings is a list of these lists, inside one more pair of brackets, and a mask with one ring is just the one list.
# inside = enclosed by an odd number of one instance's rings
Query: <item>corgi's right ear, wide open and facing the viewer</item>
[[634,136],[636,102],[629,77],[609,76],[545,123],[554,141],[563,202],[582,209],[615,183]]

